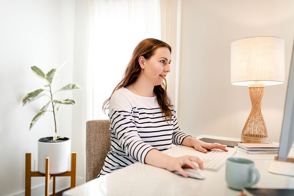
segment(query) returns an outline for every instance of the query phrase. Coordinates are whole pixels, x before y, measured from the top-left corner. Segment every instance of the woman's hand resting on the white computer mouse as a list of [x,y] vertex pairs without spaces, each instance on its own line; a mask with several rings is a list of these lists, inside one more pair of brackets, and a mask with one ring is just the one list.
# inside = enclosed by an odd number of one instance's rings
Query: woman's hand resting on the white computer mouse
[[179,172],[182,176],[188,177],[188,174],[183,170],[183,168],[192,168],[194,170],[197,170],[197,167],[192,163],[195,162],[199,165],[199,168],[203,170],[203,162],[198,158],[194,156],[181,156],[181,157],[170,157],[166,169],[168,171]]

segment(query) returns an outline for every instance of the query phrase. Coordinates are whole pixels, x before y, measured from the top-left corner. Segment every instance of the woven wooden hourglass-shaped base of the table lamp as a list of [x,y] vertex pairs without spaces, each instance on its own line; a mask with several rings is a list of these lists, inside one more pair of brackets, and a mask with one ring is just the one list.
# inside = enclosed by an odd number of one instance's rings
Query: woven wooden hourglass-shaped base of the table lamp
[[266,130],[265,122],[261,113],[261,102],[265,90],[265,85],[248,85],[248,90],[250,94],[252,108],[241,134],[241,142],[269,143],[268,132]]

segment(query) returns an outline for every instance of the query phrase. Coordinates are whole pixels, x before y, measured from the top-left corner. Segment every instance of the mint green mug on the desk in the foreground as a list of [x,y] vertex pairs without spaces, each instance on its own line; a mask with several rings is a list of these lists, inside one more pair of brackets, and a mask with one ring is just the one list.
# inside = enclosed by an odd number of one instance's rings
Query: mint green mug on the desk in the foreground
[[[255,185],[260,178],[252,160],[243,158],[228,158],[225,166],[225,181],[235,190]],[[255,176],[255,179],[254,179]]]

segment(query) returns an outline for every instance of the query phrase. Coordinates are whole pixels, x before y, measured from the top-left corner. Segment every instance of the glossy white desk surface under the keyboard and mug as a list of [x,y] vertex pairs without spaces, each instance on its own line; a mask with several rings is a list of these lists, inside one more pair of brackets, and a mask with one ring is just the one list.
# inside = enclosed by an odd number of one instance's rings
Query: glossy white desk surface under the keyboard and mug
[[[200,135],[197,138],[215,138],[235,140],[238,138]],[[228,148],[232,149],[232,148]],[[174,146],[164,153],[178,157],[193,155],[202,157],[204,153],[187,146]],[[294,154],[292,148],[290,154]],[[260,172],[260,180],[253,187],[259,188],[294,188],[294,177],[276,175],[268,172],[276,154],[247,154],[237,151],[234,157],[253,160]],[[63,196],[81,195],[239,195],[227,187],[225,182],[225,165],[218,172],[206,171],[204,180],[185,178],[165,169],[143,163],[135,163],[123,169],[91,180],[73,189],[65,191]]]

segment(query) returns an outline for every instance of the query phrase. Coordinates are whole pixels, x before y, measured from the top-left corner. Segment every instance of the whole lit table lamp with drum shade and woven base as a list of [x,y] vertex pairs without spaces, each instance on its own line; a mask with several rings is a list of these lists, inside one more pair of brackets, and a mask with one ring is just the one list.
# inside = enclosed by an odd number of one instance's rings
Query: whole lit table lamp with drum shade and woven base
[[231,43],[231,84],[248,86],[252,108],[244,125],[242,143],[268,143],[261,113],[266,85],[285,82],[285,42],[279,37],[260,36]]

